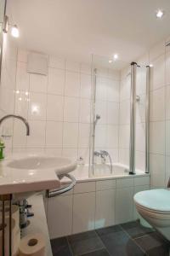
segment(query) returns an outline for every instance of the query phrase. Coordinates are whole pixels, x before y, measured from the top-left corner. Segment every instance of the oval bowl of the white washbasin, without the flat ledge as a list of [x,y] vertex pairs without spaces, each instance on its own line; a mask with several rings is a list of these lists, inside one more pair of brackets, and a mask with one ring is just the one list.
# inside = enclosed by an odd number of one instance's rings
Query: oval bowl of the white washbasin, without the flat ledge
[[11,160],[7,166],[22,170],[42,170],[53,169],[56,174],[65,174],[76,169],[77,163],[68,158],[55,156],[32,155],[24,158]]

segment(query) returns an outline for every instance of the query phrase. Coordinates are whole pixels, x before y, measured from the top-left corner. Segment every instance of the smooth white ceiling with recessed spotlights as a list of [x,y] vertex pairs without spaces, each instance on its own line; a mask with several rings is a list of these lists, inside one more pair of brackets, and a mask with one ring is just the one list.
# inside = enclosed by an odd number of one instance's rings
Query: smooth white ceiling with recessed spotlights
[[[139,55],[170,35],[169,0],[8,0],[18,44],[51,55],[91,61],[91,54]],[[164,9],[162,20],[156,9]]]

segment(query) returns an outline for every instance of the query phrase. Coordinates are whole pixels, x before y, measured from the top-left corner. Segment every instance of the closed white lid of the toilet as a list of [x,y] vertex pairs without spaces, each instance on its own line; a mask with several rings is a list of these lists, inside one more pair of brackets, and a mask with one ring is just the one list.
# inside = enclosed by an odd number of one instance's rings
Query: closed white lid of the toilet
[[155,212],[170,212],[170,190],[151,189],[134,195],[134,201]]

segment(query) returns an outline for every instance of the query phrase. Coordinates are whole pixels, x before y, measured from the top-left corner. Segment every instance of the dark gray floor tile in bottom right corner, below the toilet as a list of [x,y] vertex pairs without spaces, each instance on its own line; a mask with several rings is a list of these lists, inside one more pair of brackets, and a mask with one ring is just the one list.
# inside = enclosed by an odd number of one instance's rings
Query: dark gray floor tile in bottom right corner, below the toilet
[[169,255],[169,243],[156,232],[153,232],[147,236],[136,238],[135,241],[149,256]]

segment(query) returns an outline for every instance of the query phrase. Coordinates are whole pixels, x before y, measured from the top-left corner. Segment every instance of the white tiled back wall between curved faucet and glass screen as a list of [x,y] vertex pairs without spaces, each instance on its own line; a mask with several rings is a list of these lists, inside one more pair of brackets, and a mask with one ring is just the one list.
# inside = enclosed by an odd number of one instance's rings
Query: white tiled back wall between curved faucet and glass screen
[[27,55],[25,50],[18,52],[16,86],[11,91],[15,106],[8,113],[28,119],[31,136],[26,137],[25,126],[14,120],[13,151],[48,151],[88,160],[90,66],[49,56],[48,76],[43,76],[26,72]]

